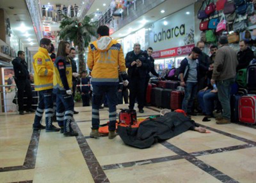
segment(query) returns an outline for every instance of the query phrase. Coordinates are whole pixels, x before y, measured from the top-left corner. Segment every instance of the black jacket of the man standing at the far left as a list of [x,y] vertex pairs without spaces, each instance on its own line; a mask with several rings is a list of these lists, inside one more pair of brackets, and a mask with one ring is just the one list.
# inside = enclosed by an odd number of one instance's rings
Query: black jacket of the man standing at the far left
[[27,63],[25,60],[21,60],[20,57],[16,57],[12,61],[12,65],[14,68],[15,79],[17,80],[29,79],[29,70],[27,68]]

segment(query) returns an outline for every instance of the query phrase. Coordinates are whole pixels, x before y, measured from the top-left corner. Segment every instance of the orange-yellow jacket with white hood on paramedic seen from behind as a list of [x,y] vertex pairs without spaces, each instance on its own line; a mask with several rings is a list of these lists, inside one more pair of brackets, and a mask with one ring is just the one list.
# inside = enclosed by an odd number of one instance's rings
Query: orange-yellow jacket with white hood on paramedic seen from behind
[[89,45],[87,58],[91,70],[91,83],[96,85],[117,85],[118,67],[125,72],[122,46],[109,36],[100,37]]

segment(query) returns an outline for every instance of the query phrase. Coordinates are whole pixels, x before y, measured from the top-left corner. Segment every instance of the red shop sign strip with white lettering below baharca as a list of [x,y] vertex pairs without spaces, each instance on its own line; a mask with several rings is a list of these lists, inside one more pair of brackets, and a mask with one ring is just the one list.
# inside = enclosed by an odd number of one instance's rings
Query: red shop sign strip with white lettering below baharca
[[181,55],[188,55],[191,50],[195,47],[195,44],[179,46],[170,49],[160,50],[152,53],[153,58],[166,58],[166,57],[176,57]]

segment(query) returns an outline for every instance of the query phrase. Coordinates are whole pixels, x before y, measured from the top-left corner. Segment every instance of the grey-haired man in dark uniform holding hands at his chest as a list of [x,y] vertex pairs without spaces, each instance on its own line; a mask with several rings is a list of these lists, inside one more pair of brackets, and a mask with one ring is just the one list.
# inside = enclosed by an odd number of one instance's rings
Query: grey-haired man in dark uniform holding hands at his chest
[[133,109],[137,97],[139,112],[144,113],[144,90],[150,63],[147,54],[140,50],[139,43],[135,43],[133,51],[127,53],[125,66],[128,68],[130,78],[129,108]]

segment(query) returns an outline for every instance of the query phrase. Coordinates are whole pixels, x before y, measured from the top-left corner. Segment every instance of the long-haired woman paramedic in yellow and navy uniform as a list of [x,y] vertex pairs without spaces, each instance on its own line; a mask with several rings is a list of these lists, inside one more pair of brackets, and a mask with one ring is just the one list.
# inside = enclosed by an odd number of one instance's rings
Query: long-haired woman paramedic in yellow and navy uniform
[[69,42],[59,43],[57,58],[54,62],[53,93],[56,94],[56,117],[64,136],[78,136],[73,131],[71,122],[74,114],[74,99],[72,96],[72,63],[68,58]]

